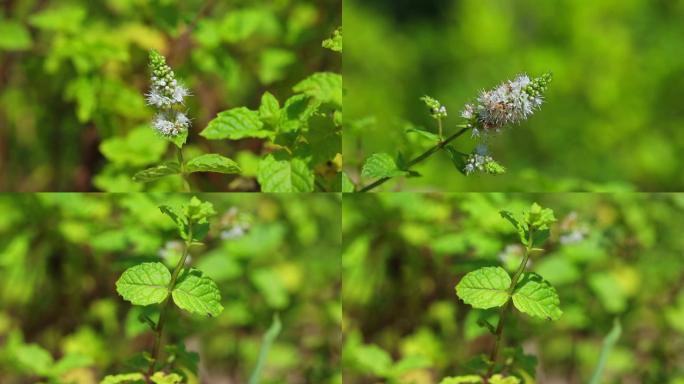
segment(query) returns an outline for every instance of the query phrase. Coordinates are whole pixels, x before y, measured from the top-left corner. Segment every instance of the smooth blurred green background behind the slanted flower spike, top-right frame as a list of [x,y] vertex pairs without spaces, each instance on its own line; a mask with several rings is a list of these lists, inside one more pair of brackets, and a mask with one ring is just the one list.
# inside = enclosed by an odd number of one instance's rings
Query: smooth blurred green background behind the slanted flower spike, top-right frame
[[372,153],[427,149],[404,133],[436,131],[424,94],[455,132],[480,90],[551,71],[542,109],[490,142],[506,175],[465,178],[439,153],[415,168],[423,177],[380,190],[681,190],[682,20],[681,0],[345,1],[346,170],[358,181]]

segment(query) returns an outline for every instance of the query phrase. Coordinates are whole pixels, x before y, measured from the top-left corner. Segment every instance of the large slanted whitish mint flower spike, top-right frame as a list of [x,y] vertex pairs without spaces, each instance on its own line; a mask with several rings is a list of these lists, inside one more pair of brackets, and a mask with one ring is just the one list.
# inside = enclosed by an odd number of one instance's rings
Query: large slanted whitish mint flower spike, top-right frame
[[551,73],[534,79],[518,75],[494,89],[480,92],[477,102],[466,104],[461,116],[468,119],[468,126],[476,137],[519,124],[541,107],[551,78]]

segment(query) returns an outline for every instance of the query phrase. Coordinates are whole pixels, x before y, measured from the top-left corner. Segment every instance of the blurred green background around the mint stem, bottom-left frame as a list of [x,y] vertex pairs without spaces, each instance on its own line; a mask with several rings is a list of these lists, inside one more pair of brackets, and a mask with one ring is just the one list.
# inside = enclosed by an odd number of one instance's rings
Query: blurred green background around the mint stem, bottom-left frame
[[[246,383],[275,313],[283,328],[261,382],[341,383],[339,196],[199,197],[218,215],[191,262],[218,282],[225,310],[217,318],[169,312],[167,344],[201,355],[200,377],[187,383]],[[178,231],[157,206],[188,201],[0,196],[0,382],[90,384],[135,371],[153,334],[114,283],[140,262],[176,262]]]

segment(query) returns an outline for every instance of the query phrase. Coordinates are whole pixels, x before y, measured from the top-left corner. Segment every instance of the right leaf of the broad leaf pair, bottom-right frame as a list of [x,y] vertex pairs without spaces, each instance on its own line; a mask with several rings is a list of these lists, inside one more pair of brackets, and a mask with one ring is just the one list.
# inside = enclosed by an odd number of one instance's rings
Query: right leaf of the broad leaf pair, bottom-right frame
[[556,289],[536,273],[526,273],[513,292],[513,304],[521,312],[541,319],[558,320],[563,311]]

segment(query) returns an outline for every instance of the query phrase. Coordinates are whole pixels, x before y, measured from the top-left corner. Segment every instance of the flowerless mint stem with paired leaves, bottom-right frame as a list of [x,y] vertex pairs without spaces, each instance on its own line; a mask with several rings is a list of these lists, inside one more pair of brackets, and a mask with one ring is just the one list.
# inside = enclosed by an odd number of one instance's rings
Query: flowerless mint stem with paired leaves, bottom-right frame
[[[558,320],[562,311],[556,290],[549,282],[534,272],[528,272],[528,262],[533,254],[543,252],[541,246],[549,237],[549,225],[556,221],[553,211],[532,204],[522,215],[501,211],[501,216],[508,220],[518,232],[520,242],[525,248],[520,265],[511,277],[502,267],[483,267],[467,273],[456,285],[456,295],[464,303],[477,309],[499,309],[499,320],[496,327],[483,322],[495,337],[494,347],[488,357],[484,358],[483,372],[477,375],[448,377],[441,384],[484,383],[484,384],[517,384],[520,379],[506,372],[513,371],[511,364],[530,364],[530,359],[521,349],[507,351],[509,358],[498,363],[499,351],[503,344],[503,330],[511,304],[518,311],[528,316]],[[536,359],[532,358],[532,364]],[[511,363],[512,362],[512,363]],[[532,372],[533,369],[532,369]]]

